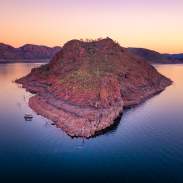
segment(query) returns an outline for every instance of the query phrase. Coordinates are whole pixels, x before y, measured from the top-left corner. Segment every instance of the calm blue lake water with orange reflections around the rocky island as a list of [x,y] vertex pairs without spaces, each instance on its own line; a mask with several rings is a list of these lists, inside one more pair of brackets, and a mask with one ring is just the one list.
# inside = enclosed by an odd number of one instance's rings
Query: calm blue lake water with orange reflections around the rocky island
[[89,140],[70,138],[28,107],[31,94],[12,81],[37,66],[0,65],[0,177],[183,182],[183,65],[157,65],[174,84]]

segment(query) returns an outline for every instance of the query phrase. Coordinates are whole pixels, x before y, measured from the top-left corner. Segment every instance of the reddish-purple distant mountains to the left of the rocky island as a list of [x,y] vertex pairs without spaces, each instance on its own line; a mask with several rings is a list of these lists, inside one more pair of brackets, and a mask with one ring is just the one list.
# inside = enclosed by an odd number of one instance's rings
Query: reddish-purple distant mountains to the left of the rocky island
[[[52,58],[61,47],[26,44],[19,48],[0,43],[0,62],[21,62],[23,60],[45,60]],[[31,62],[31,61],[30,61]]]

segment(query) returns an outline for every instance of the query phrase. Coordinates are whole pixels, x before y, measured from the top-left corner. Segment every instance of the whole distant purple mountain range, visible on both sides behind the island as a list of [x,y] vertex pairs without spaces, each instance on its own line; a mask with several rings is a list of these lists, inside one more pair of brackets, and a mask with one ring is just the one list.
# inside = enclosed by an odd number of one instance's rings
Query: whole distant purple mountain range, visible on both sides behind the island
[[[42,45],[25,44],[19,48],[0,43],[0,63],[14,62],[36,62],[49,61],[57,52],[60,46],[48,47]],[[145,48],[127,48],[127,50],[150,63],[183,63],[183,53],[161,54]]]

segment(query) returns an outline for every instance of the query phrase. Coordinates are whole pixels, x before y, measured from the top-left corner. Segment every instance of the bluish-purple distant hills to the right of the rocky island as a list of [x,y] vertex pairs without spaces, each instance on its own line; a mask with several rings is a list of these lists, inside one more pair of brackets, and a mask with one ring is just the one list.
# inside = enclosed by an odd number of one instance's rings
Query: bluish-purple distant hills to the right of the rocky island
[[183,63],[183,53],[161,54],[157,51],[145,48],[127,48],[128,51],[137,57],[145,59],[151,63]]

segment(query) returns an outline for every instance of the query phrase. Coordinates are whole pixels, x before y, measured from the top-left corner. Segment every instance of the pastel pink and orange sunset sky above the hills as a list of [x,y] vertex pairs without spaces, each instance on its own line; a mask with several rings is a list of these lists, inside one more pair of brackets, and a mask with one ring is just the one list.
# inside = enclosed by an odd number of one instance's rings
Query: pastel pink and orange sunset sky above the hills
[[0,42],[55,46],[99,37],[183,52],[183,0],[0,0]]

